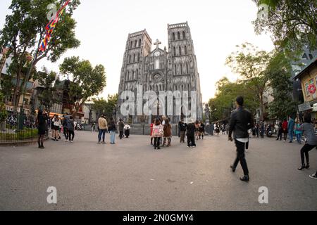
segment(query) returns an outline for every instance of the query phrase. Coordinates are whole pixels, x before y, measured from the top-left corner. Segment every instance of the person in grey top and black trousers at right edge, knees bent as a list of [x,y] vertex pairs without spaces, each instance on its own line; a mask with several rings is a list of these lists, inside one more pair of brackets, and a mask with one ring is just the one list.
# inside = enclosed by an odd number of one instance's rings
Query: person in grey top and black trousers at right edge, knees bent
[[[315,129],[313,124],[311,123],[311,114],[306,113],[304,115],[304,124],[297,128],[298,131],[302,131],[303,135],[306,137],[306,143],[301,149],[301,160],[302,167],[299,167],[299,170],[309,169],[309,151],[313,148],[316,148],[317,138],[315,135]],[[306,165],[305,165],[306,158]]]

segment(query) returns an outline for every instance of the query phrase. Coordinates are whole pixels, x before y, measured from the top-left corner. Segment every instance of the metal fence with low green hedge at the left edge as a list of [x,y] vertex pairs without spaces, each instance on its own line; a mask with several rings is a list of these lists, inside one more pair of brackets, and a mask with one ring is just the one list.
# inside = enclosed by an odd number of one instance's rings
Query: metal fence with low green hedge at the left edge
[[0,144],[19,143],[37,140],[35,116],[11,113],[0,122]]

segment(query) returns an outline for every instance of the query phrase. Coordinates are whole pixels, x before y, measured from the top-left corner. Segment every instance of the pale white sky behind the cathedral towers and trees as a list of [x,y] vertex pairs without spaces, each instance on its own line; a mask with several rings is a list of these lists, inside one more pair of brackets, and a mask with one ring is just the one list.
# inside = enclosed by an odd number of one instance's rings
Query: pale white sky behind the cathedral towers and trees
[[[10,11],[11,0],[0,2],[0,29]],[[238,75],[225,65],[225,59],[237,44],[250,42],[259,49],[271,51],[274,46],[268,34],[256,35],[251,21],[256,19],[257,7],[251,0],[81,0],[73,17],[77,21],[77,49],[70,49],[56,63],[43,60],[49,70],[58,72],[63,58],[80,56],[92,65],[106,68],[107,86],[99,97],[118,93],[120,70],[129,33],[147,29],[152,42],[159,39],[168,48],[167,25],[189,24],[197,56],[204,102],[216,93],[216,82],[228,77],[232,82]],[[154,50],[155,46],[152,46]]]

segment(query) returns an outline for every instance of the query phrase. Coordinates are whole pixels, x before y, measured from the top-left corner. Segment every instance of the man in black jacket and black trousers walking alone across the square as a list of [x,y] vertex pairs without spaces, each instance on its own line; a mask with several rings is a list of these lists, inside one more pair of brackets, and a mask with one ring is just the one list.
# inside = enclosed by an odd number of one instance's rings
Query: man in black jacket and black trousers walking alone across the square
[[240,180],[249,181],[249,170],[247,166],[247,161],[245,160],[244,150],[246,144],[249,142],[248,130],[254,127],[254,122],[251,113],[248,110],[244,110],[243,103],[243,97],[237,97],[237,109],[234,110],[231,114],[228,140],[233,141],[233,131],[235,145],[237,146],[237,158],[231,166],[232,172],[235,172],[235,169],[237,168],[237,165],[240,162],[244,172],[244,176],[242,178],[240,177]]

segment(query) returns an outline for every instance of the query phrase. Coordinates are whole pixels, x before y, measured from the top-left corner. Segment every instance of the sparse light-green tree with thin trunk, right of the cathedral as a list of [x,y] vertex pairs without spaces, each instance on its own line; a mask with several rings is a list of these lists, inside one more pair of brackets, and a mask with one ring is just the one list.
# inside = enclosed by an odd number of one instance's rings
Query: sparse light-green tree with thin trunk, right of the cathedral
[[237,46],[240,50],[232,53],[226,60],[226,65],[232,68],[232,72],[240,75],[241,82],[245,82],[253,92],[259,97],[260,117],[263,120],[264,103],[263,94],[268,84],[268,76],[265,73],[271,53],[259,51],[256,46],[244,43]]

